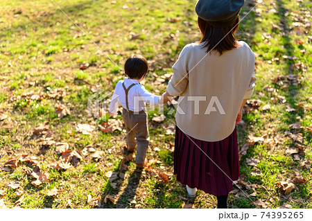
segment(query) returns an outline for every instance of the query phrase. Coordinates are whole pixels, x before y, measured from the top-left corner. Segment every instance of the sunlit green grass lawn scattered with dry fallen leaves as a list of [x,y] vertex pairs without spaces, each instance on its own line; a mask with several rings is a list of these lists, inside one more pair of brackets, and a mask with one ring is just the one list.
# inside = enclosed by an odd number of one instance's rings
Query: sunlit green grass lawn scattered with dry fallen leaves
[[[144,55],[150,64],[145,87],[155,94],[166,90],[183,46],[200,39],[195,0],[55,3],[122,69],[130,55]],[[216,197],[202,191],[187,197],[173,176],[171,106],[161,123],[152,120],[157,109],[148,113],[150,166],[137,171],[134,161],[124,164],[125,130],[98,130],[107,123],[87,112],[89,96],[113,91],[123,78],[119,68],[52,1],[1,4],[0,206],[216,207]],[[247,1],[240,15],[247,16],[238,36],[256,54],[257,86],[237,126],[245,151],[228,204],[312,208],[312,3],[256,5]],[[92,132],[78,131],[81,125]],[[71,162],[60,166],[62,148],[78,152],[65,152]]]

